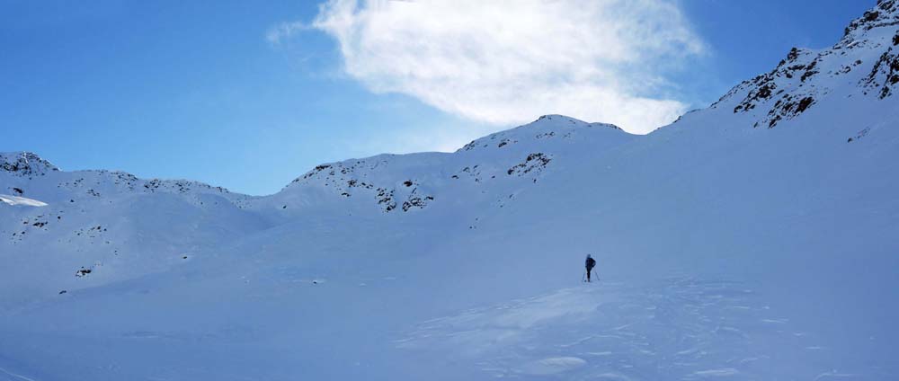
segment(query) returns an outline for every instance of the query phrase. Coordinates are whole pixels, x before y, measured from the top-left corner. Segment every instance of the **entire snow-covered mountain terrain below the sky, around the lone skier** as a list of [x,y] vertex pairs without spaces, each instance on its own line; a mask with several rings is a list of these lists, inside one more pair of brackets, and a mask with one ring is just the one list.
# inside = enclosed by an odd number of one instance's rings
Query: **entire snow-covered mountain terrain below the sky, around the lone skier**
[[2,154],[0,379],[892,379],[897,57],[880,0],[646,136],[548,115],[265,197]]

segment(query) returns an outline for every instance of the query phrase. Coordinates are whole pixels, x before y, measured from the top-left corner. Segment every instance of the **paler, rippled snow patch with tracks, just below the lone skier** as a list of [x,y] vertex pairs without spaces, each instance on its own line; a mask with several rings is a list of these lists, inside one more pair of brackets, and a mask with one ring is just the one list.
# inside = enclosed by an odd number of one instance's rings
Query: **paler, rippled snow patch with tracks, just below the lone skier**
[[420,323],[396,345],[518,379],[812,379],[814,334],[749,284],[585,284]]

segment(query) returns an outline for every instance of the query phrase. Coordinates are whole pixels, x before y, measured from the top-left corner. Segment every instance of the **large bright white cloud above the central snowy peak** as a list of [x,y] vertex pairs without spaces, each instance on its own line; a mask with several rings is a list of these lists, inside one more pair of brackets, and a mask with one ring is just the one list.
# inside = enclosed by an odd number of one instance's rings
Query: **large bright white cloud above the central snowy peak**
[[685,111],[655,95],[658,73],[704,49],[667,0],[330,0],[269,40],[306,27],[333,36],[374,92],[497,124],[560,113],[637,133]]

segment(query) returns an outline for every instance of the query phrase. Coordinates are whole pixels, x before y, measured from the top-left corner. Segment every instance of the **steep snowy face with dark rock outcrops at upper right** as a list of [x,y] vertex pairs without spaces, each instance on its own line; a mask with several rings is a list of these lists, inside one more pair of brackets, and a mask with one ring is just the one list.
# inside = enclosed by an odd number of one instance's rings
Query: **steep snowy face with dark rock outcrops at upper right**
[[755,128],[774,128],[826,97],[889,97],[899,83],[897,9],[895,0],[879,1],[831,48],[790,49],[770,72],[736,85],[711,108],[749,115]]

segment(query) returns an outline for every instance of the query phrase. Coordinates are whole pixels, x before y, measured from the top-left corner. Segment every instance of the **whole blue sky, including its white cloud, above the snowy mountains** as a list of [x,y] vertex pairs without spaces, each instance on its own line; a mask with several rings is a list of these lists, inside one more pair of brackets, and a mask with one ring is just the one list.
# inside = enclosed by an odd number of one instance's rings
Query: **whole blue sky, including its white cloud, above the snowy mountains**
[[268,194],[544,113],[638,132],[832,44],[875,1],[348,4],[0,0],[0,151]]

